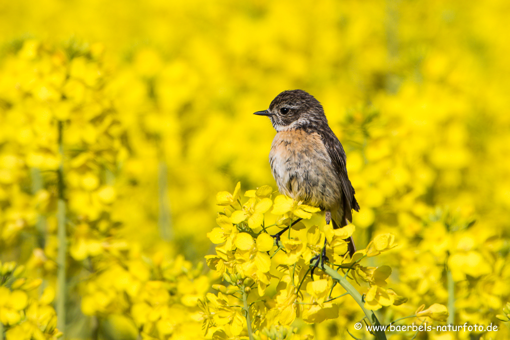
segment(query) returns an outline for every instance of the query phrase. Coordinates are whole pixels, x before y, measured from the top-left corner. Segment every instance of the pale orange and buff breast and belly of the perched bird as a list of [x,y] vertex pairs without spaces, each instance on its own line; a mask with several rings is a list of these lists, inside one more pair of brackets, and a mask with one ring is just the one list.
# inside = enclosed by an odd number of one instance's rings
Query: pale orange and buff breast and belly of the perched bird
[[339,177],[318,133],[278,132],[269,162],[281,193],[326,209],[339,204]]

